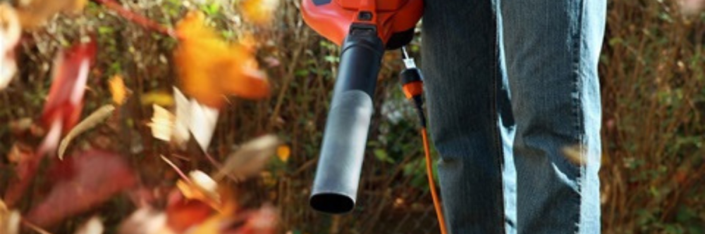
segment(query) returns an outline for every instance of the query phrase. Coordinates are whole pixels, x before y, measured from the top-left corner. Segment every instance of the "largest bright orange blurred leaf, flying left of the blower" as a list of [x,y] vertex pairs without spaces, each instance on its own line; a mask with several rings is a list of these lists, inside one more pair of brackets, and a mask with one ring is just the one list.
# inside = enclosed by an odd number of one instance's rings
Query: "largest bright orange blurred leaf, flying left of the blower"
[[204,20],[203,13],[190,12],[176,27],[180,44],[174,61],[185,93],[213,108],[221,108],[227,95],[269,96],[269,82],[252,53],[228,44]]

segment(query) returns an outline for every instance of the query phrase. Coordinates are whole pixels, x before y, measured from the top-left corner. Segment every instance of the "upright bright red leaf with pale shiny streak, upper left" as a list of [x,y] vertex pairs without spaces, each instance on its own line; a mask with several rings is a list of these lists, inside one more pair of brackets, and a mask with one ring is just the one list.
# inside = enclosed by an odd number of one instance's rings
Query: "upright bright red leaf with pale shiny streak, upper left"
[[62,133],[66,134],[78,123],[83,106],[83,93],[96,51],[97,44],[91,40],[72,46],[67,51],[61,51],[56,56],[52,74],[54,82],[49,89],[42,114],[44,126],[48,127],[54,121],[61,121]]

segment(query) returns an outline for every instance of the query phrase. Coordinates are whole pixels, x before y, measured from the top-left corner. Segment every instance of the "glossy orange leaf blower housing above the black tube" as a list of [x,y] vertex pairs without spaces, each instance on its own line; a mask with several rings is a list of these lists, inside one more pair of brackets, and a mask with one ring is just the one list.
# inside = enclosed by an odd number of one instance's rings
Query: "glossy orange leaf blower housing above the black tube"
[[424,12],[422,0],[304,0],[306,24],[341,46],[350,26],[372,25],[387,49],[411,41]]

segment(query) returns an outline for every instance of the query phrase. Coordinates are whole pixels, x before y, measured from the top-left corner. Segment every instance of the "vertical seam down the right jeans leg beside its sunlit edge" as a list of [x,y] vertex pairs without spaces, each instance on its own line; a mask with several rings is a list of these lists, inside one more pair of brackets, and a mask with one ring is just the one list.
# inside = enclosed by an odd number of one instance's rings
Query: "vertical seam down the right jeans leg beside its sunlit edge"
[[[572,109],[573,109],[573,115],[575,117],[575,138],[574,141],[577,141],[578,144],[578,150],[580,152],[579,157],[581,157],[581,160],[584,160],[582,157],[585,156],[584,154],[584,134],[582,134],[581,129],[583,128],[583,113],[582,113],[582,108],[580,108],[581,105],[581,100],[582,100],[582,95],[583,93],[580,91],[580,56],[582,53],[582,38],[584,37],[583,35],[583,30],[582,30],[582,24],[583,24],[583,18],[584,18],[584,10],[585,10],[585,0],[581,0],[578,2],[578,10],[577,12],[577,22],[575,25],[575,30],[577,30],[577,33],[575,33],[575,38],[573,41],[573,50],[575,53],[572,53],[572,56],[574,56],[572,62],[573,62],[573,72],[572,74],[574,75],[572,83],[573,83],[573,91],[577,93],[577,97],[573,98],[573,103],[572,103]],[[582,183],[584,182],[584,176],[586,171],[584,170],[584,165],[580,164],[578,165],[578,169],[580,170],[580,174],[578,178],[576,179],[577,183],[577,220],[575,220],[575,233],[580,233],[580,219],[582,216],[582,212],[580,212],[582,208]]]

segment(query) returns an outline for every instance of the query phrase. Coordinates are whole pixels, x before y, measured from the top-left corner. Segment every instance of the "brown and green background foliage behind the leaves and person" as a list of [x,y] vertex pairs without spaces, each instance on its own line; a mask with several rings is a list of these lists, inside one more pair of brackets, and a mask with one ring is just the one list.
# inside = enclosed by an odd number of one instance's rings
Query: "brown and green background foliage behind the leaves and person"
[[[252,204],[273,202],[280,207],[282,233],[436,232],[415,116],[396,81],[398,53],[386,54],[379,76],[375,102],[381,111],[373,117],[359,206],[346,216],[317,214],[308,208],[307,198],[338,48],[305,26],[299,1],[280,4],[272,29],[244,24],[233,1],[185,3],[137,0],[123,1],[123,6],[165,25],[173,25],[188,9],[200,9],[227,39],[241,37],[243,28],[256,32],[257,39],[264,41],[259,60],[278,62],[263,66],[271,77],[271,98],[232,100],[223,110],[211,153],[222,159],[233,145],[269,132],[286,141],[291,149],[288,160],[274,160],[258,181],[240,186],[248,190]],[[121,131],[99,127],[78,138],[74,148],[99,145],[132,155],[131,164],[140,168],[142,183],[164,183],[164,174],[176,175],[157,157],[168,149],[151,138],[146,123],[152,108],[142,102],[155,93],[171,92],[177,83],[171,66],[176,41],[125,22],[95,4],[82,16],[57,18],[23,41],[18,79],[0,92],[4,107],[0,122],[41,114],[54,53],[87,27],[97,29],[100,49],[84,115],[110,102],[107,80],[114,74],[125,77],[132,95],[119,110]],[[705,233],[704,37],[705,14],[684,15],[676,1],[609,1],[600,66],[604,233]],[[417,57],[418,46],[418,41],[412,45]],[[15,140],[11,124],[0,125],[3,155]],[[188,160],[178,164],[185,170],[209,167],[201,157],[184,157]],[[3,161],[1,178],[8,178],[9,167]],[[0,181],[2,187],[6,183]],[[114,227],[133,210],[126,199],[118,197],[91,214],[99,214],[106,226]],[[87,217],[76,217],[56,233],[73,230]]]

